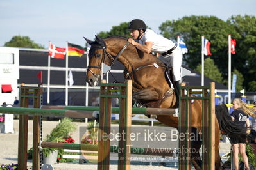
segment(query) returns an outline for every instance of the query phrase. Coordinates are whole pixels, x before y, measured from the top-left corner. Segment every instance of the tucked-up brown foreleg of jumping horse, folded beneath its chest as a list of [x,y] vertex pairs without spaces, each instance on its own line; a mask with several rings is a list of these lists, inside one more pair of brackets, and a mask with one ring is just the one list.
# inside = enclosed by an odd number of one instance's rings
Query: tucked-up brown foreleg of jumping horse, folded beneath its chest
[[151,100],[158,100],[159,94],[157,93],[157,91],[155,91],[154,88],[145,88],[138,92],[133,93],[132,97],[135,100],[151,101]]

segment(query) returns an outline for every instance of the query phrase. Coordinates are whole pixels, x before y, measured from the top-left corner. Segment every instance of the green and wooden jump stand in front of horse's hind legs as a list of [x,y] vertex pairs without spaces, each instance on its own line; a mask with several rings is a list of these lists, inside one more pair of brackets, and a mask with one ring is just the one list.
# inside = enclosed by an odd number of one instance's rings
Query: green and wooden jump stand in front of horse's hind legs
[[[184,139],[189,139],[191,134],[191,112],[192,100],[202,101],[202,122],[201,130],[203,135],[203,153],[202,168],[214,169],[215,159],[215,100],[214,100],[214,82],[210,86],[181,86],[180,93],[180,114],[179,114],[179,132],[185,134]],[[192,91],[192,89],[200,89],[201,91]],[[185,91],[187,92],[185,94]],[[209,91],[209,92],[208,92]],[[201,95],[201,96],[196,96]],[[188,137],[188,138],[187,138]],[[192,148],[191,141],[180,140],[179,148]],[[179,169],[191,169],[191,152],[181,152],[179,161]]]

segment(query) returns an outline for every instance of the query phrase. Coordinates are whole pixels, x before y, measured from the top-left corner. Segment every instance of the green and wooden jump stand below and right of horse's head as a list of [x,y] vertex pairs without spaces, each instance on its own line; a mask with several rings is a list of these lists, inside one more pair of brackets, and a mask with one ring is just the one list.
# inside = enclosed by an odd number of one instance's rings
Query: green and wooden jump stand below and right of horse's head
[[[114,87],[114,89],[112,89]],[[119,94],[116,94],[119,93]],[[130,169],[130,131],[132,125],[132,81],[127,84],[106,84],[101,82],[99,111],[99,139],[98,139],[98,170],[109,169],[110,166],[110,139],[104,136],[110,134],[112,98],[119,98],[119,141],[118,169]]]

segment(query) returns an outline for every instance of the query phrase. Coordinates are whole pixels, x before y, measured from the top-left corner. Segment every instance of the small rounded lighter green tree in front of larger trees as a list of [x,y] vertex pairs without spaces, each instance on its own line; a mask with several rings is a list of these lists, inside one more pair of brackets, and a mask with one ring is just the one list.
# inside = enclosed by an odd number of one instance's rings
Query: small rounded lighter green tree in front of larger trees
[[[223,77],[221,72],[219,72],[218,67],[215,65],[213,59],[206,58],[205,59],[205,69],[204,75],[209,77],[210,79],[217,81],[219,83],[223,83]],[[196,67],[196,71],[201,73],[201,64]]]

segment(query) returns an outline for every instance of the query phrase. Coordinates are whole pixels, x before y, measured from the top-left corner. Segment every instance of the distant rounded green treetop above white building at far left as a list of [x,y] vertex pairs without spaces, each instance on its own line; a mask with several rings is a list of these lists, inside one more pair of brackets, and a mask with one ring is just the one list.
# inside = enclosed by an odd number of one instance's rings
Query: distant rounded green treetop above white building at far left
[[4,44],[5,47],[23,47],[32,49],[45,49],[43,45],[33,42],[28,36],[13,36],[10,42]]

